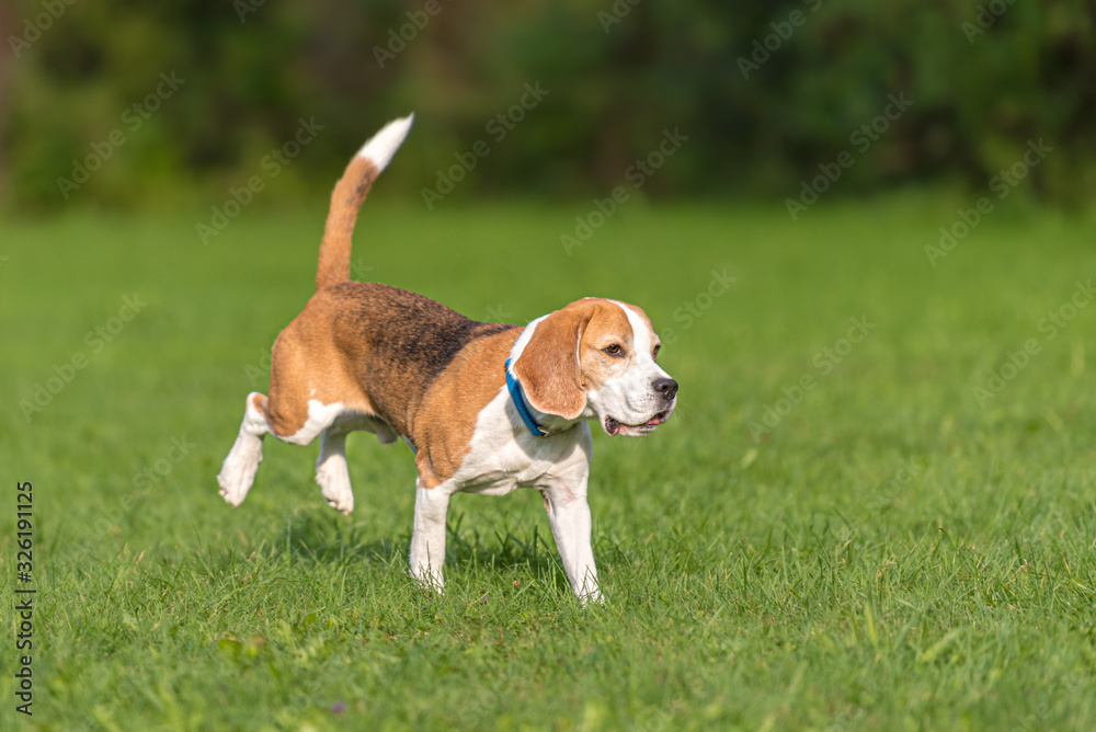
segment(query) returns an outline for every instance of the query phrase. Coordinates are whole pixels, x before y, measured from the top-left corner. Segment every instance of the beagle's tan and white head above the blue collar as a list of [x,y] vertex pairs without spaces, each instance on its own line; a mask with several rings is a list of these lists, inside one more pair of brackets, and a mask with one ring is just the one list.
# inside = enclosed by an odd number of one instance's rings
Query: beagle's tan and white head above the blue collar
[[641,309],[591,297],[529,323],[511,368],[546,414],[596,416],[609,435],[647,435],[677,403],[677,382],[655,363],[660,345]]

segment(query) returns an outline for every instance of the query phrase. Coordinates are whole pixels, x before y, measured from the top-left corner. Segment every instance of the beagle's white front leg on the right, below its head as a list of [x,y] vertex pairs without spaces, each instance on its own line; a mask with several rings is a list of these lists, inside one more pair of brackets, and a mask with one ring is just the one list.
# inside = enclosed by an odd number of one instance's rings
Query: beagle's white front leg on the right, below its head
[[592,526],[585,480],[579,489],[560,485],[544,490],[548,523],[556,537],[563,571],[571,581],[571,590],[583,604],[600,603],[602,593],[597,586],[597,568],[594,565],[594,550],[590,544]]

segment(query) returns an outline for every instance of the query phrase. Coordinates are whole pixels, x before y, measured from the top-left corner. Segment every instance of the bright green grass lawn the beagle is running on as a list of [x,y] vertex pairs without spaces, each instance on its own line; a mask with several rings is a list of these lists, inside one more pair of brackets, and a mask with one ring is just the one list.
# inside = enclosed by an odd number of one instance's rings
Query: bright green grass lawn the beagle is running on
[[[13,710],[5,630],[0,728],[1093,729],[1096,308],[1039,330],[1096,273],[1093,221],[1002,209],[929,266],[961,203],[798,222],[637,204],[572,256],[558,237],[583,206],[367,205],[363,278],[514,322],[617,297],[675,330],[677,416],[594,436],[608,602],[585,609],[528,491],[454,499],[446,594],[416,590],[411,456],[370,435],[350,441],[349,519],[312,482],[316,446],[267,441],[248,501],[217,495],[249,367],[310,294],[321,209],[249,210],[209,247],[197,216],[9,221],[4,628],[19,480],[38,595],[34,717]],[[738,281],[686,328],[675,310],[724,267]],[[91,353],[134,293],[147,307]],[[823,374],[861,316],[875,330]],[[77,352],[87,367],[27,423],[20,400]],[[172,439],[193,444],[176,461]]]

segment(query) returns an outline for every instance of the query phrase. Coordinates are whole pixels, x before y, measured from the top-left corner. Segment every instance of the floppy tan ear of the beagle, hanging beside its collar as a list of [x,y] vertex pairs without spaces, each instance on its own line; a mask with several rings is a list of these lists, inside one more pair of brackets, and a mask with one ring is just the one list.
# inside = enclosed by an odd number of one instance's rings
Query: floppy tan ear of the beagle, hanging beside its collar
[[534,327],[529,342],[514,362],[525,398],[546,414],[578,418],[586,405],[579,343],[593,317],[590,308],[567,307]]

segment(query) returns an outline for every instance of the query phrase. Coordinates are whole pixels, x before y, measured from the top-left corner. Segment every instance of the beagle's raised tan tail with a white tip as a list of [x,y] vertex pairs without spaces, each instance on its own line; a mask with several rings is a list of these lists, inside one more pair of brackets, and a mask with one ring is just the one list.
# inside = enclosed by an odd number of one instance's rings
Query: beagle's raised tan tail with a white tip
[[403,142],[413,121],[414,115],[410,114],[385,125],[354,156],[346,165],[346,172],[335,183],[335,190],[331,193],[328,225],[323,229],[323,243],[320,244],[320,264],[316,272],[317,290],[350,279],[351,239],[357,211],[373,182]]

